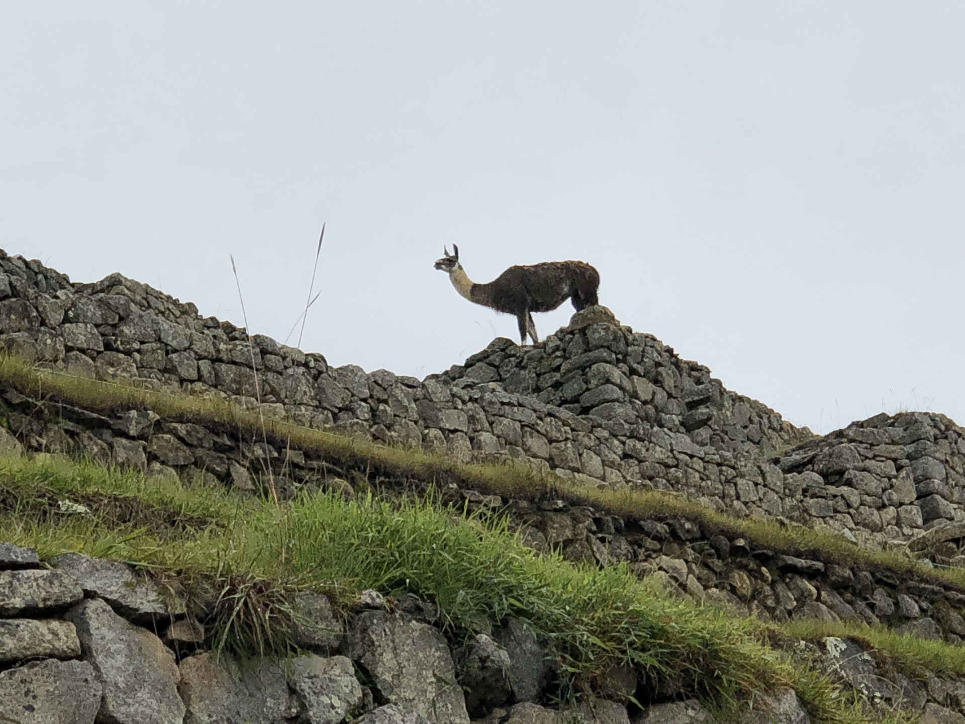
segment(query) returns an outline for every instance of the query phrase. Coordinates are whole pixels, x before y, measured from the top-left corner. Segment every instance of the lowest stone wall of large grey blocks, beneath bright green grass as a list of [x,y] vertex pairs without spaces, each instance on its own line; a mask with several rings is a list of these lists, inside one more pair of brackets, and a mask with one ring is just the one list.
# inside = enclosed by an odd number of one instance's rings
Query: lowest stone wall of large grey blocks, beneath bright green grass
[[[454,647],[433,606],[363,592],[347,616],[304,592],[301,654],[237,661],[208,648],[212,611],[185,612],[123,564],[78,554],[41,565],[0,544],[0,717],[19,724],[630,724],[667,705],[630,705],[632,672],[611,699],[548,708],[552,648],[519,620]],[[605,682],[598,682],[603,685]],[[642,696],[642,694],[639,694]],[[776,696],[807,721],[793,691]],[[696,702],[687,706],[706,713]],[[771,705],[763,701],[765,709]],[[760,703],[758,703],[758,709]],[[800,718],[804,715],[804,718]],[[760,720],[757,712],[746,724]]]

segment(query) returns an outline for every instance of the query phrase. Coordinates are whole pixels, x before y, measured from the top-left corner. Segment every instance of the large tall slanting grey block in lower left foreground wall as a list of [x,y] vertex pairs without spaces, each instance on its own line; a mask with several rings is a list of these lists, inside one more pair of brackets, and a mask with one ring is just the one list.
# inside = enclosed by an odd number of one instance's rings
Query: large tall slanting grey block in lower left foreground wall
[[181,720],[178,665],[157,636],[128,623],[99,599],[79,603],[67,618],[103,686],[102,718],[117,724]]

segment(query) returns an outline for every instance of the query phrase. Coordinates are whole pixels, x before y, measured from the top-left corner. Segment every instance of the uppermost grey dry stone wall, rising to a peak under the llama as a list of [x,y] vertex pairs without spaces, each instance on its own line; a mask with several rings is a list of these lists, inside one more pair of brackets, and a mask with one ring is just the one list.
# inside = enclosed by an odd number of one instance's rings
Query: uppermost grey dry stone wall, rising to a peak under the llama
[[[0,345],[70,374],[227,397],[268,416],[456,459],[528,460],[588,485],[675,490],[731,515],[826,525],[867,545],[965,517],[965,443],[950,420],[877,417],[818,439],[602,307],[532,348],[497,339],[419,380],[331,368],[321,354],[249,339],[120,274],[72,284],[3,252],[0,269]],[[49,449],[80,434],[16,432]],[[184,426],[152,432],[143,450],[103,434],[100,441],[124,462],[195,466],[245,485],[246,459],[223,443],[196,444]],[[80,444],[103,452],[90,437]]]

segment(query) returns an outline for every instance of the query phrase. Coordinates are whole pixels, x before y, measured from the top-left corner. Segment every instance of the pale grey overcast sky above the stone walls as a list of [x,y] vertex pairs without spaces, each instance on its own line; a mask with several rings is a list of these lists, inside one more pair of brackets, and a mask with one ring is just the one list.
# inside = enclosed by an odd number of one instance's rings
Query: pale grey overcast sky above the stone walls
[[233,254],[284,341],[327,222],[302,347],[415,376],[516,335],[444,244],[582,259],[797,425],[965,423],[963,38],[961,0],[0,0],[0,247],[241,324]]

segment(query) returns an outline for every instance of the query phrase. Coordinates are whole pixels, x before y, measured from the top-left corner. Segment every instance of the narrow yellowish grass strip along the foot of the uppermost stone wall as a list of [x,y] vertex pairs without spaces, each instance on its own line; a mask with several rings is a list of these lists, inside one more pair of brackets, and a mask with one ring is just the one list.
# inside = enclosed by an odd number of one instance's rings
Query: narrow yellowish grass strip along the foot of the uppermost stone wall
[[53,409],[57,402],[108,414],[132,408],[152,409],[168,420],[216,424],[259,437],[266,433],[283,446],[316,453],[351,469],[416,478],[436,487],[455,482],[463,488],[529,500],[564,498],[628,518],[683,516],[700,521],[708,531],[743,537],[777,552],[894,571],[965,591],[965,571],[932,568],[903,551],[868,550],[829,530],[786,525],[769,518],[735,518],[712,511],[684,495],[649,489],[588,487],[512,460],[459,463],[429,450],[381,445],[284,420],[262,419],[257,412],[239,409],[223,399],[173,395],[145,390],[135,383],[54,374],[12,356],[0,356],[0,383],[32,398],[51,401]]

